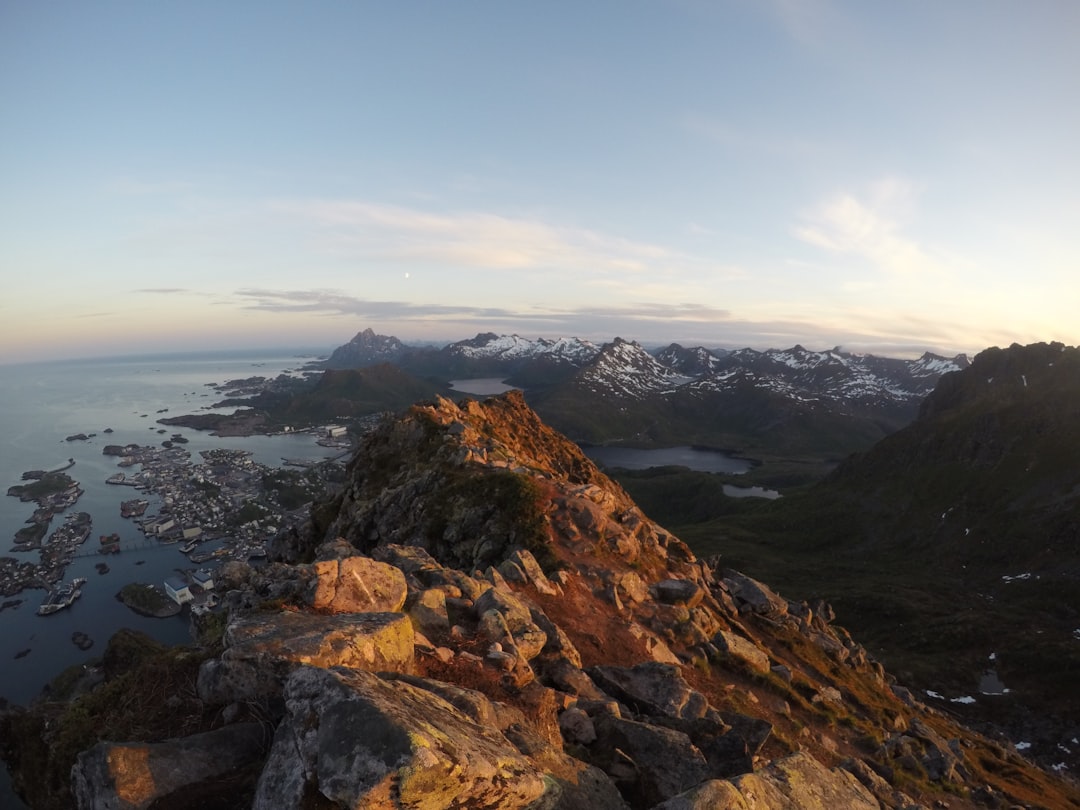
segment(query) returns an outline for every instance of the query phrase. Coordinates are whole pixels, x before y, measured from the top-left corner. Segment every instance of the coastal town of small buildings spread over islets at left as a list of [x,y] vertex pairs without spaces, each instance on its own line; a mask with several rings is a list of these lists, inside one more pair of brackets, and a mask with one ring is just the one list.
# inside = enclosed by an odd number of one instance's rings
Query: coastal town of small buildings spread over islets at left
[[[265,543],[278,531],[303,519],[306,507],[343,474],[340,463],[351,442],[337,426],[312,429],[324,446],[339,447],[338,457],[325,461],[286,461],[286,468],[255,462],[246,450],[214,448],[202,450],[194,460],[184,446],[187,440],[173,434],[160,445],[107,445],[106,456],[114,457],[119,472],[107,478],[118,490],[131,487],[134,498],[119,498],[122,516],[132,521],[141,538],[122,539],[118,534],[102,535],[87,543],[92,516],[72,512],[83,489],[67,471],[33,470],[23,474],[29,482],[11,487],[9,496],[37,504],[27,528],[17,532],[14,552],[40,550],[38,563],[0,557],[0,595],[18,596],[27,589],[48,589],[43,605],[53,612],[70,605],[81,593],[79,586],[63,583],[65,570],[78,555],[118,554],[149,544],[176,544],[190,566],[180,562],[176,575],[166,582],[152,583],[159,595],[179,606],[189,602],[200,609],[213,607],[212,568],[228,559],[253,559],[266,555]],[[78,437],[76,437],[78,438]],[[293,469],[288,469],[288,468]],[[66,513],[62,524],[48,534],[54,517]],[[98,563],[98,571],[108,570]],[[80,583],[80,585],[83,583]],[[127,589],[124,592],[131,593]],[[133,609],[137,605],[121,598]],[[21,604],[6,599],[0,610]]]

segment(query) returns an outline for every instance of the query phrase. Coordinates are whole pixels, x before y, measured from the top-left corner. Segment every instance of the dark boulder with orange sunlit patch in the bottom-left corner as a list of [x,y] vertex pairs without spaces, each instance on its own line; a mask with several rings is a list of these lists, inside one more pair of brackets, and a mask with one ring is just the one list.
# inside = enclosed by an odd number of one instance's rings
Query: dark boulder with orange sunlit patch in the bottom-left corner
[[255,723],[166,742],[102,742],[76,759],[71,793],[80,810],[141,810],[168,797],[179,807],[185,795],[193,801],[228,798],[251,788],[266,742]]

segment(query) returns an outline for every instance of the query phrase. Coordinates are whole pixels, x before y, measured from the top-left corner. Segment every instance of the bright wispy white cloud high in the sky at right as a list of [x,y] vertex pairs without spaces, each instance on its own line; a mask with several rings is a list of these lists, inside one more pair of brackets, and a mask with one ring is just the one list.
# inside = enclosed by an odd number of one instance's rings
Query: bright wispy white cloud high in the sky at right
[[941,270],[941,260],[903,232],[913,204],[912,187],[889,179],[863,199],[842,192],[824,200],[804,215],[794,233],[815,247],[864,259],[891,273]]

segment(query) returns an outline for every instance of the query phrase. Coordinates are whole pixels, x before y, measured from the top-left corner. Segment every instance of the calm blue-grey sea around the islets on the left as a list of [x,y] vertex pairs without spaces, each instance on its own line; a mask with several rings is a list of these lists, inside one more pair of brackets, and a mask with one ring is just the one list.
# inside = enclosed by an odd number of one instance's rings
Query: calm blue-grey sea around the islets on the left
[[[24,483],[23,472],[73,465],[67,474],[83,489],[68,511],[89,512],[90,538],[81,546],[95,551],[100,535],[118,532],[125,545],[144,548],[120,554],[76,557],[64,580],[84,577],[83,595],[70,608],[52,616],[37,615],[44,590],[25,590],[0,596],[0,604],[22,599],[0,610],[0,698],[27,705],[41,687],[65,669],[99,657],[109,637],[121,627],[133,627],[167,644],[191,640],[187,611],[168,619],[140,617],[116,594],[129,582],[161,584],[178,568],[191,564],[177,544],[146,544],[138,527],[120,515],[120,502],[135,497],[150,500],[147,514],[157,511],[152,496],[106,483],[119,471],[117,459],[103,455],[106,445],[160,444],[179,433],[198,462],[199,451],[214,447],[247,450],[255,461],[280,467],[284,459],[321,459],[340,450],[315,444],[316,436],[296,433],[275,436],[216,437],[187,428],[162,426],[158,419],[191,413],[231,413],[212,406],[221,394],[212,386],[253,376],[299,375],[316,359],[311,350],[275,350],[163,354],[33,364],[0,365],[0,556],[37,562],[38,552],[10,551],[15,532],[26,525],[36,504],[4,495]],[[106,433],[111,429],[110,433]],[[161,430],[165,433],[161,433]],[[68,441],[77,434],[85,441]],[[91,435],[94,434],[94,435]],[[53,517],[50,531],[66,513]],[[99,573],[98,563],[108,565]],[[82,650],[71,637],[85,633],[93,640]],[[8,774],[0,769],[0,807],[23,807],[11,793]]]

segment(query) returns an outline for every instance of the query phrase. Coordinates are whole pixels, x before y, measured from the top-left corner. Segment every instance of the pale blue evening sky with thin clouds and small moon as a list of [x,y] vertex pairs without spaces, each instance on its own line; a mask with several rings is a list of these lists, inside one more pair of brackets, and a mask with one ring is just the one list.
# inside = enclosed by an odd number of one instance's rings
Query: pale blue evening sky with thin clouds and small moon
[[0,0],[0,363],[1080,343],[1075,0]]

